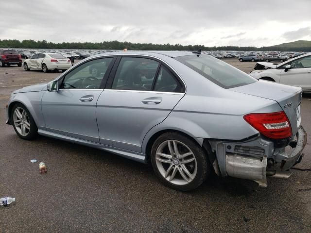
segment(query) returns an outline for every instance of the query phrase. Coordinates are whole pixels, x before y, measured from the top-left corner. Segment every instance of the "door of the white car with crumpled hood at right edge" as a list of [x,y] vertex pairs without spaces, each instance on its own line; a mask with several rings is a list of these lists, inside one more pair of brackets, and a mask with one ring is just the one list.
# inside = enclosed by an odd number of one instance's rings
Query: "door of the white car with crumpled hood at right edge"
[[303,90],[311,90],[311,56],[296,59],[290,63],[291,68],[285,72],[283,65],[280,73],[280,83],[300,86]]

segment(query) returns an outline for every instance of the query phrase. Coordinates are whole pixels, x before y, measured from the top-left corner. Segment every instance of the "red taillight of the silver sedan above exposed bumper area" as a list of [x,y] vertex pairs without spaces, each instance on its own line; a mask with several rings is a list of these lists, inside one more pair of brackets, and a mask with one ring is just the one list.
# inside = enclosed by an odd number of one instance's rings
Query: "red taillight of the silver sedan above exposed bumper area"
[[266,137],[282,139],[292,136],[291,124],[284,112],[251,113],[245,115],[244,120]]

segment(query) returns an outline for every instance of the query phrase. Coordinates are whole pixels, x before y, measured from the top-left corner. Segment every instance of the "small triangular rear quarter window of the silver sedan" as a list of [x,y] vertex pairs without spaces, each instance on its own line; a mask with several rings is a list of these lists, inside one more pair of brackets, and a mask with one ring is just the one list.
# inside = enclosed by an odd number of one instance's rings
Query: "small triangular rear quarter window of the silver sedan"
[[155,83],[155,91],[182,92],[182,85],[176,80],[173,74],[161,66]]

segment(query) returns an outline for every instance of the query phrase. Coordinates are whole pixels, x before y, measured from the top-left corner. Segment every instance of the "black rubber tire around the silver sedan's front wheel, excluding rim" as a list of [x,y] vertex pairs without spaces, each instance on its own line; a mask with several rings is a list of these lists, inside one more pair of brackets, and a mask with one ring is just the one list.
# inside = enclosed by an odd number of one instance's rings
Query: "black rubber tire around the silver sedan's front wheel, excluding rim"
[[[30,123],[30,129],[29,129],[28,134],[25,135],[25,136],[24,136],[24,135],[21,135],[21,134],[18,132],[17,127],[15,126],[15,124],[14,124],[14,122],[13,122],[13,121],[14,121],[13,114],[14,114],[14,111],[15,111],[17,108],[23,109],[23,110],[27,113],[27,116],[28,116],[28,120],[29,120],[29,123]],[[11,122],[12,122],[12,124],[13,124],[13,128],[14,128],[15,132],[17,133],[17,135],[18,135],[20,138],[25,139],[25,140],[32,140],[32,139],[34,139],[34,138],[38,135],[38,128],[37,128],[37,126],[36,126],[36,124],[35,124],[34,118],[33,118],[33,116],[31,116],[30,112],[28,111],[28,109],[27,109],[23,104],[21,104],[21,103],[15,104],[15,105],[13,106],[12,111],[11,111],[10,114],[11,114],[11,115],[10,115],[10,116],[11,116],[10,119],[11,119]]]

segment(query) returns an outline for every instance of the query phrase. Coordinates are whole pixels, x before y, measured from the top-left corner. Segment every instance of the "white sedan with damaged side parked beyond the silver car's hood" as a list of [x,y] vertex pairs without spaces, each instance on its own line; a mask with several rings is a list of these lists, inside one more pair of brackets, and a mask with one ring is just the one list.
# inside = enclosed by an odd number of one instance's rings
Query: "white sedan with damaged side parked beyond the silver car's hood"
[[49,70],[65,71],[70,67],[70,60],[59,53],[38,52],[24,61],[24,69],[27,71],[42,70],[46,73]]

